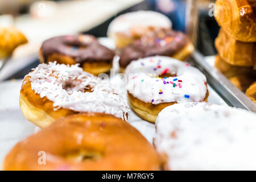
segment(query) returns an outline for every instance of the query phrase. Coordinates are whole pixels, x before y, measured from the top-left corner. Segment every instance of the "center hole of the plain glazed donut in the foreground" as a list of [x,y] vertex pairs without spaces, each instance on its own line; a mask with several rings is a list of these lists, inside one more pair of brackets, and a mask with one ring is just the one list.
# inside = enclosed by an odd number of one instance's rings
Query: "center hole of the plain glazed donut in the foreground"
[[103,156],[102,152],[94,150],[78,150],[70,151],[63,155],[65,159],[72,162],[84,162],[88,160],[100,160]]

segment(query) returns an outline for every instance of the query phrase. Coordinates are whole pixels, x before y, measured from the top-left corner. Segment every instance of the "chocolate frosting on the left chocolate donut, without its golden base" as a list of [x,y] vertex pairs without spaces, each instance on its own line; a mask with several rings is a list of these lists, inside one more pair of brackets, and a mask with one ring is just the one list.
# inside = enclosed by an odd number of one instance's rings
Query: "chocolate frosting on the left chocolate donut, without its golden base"
[[57,36],[43,42],[41,51],[44,60],[59,53],[72,57],[77,63],[106,61],[112,63],[114,52],[102,46],[92,35]]

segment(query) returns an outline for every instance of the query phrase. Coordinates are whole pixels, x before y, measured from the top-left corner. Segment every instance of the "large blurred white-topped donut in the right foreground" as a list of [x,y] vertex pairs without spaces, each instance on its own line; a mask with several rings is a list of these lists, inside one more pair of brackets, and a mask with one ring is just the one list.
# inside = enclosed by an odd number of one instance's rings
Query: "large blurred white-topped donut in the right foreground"
[[256,115],[205,102],[164,108],[154,146],[164,170],[255,170]]

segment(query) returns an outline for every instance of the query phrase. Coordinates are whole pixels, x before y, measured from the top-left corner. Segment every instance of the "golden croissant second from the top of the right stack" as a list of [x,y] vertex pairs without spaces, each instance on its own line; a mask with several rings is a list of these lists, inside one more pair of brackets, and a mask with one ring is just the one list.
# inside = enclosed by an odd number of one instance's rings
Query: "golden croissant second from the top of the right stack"
[[243,67],[251,67],[256,63],[256,43],[238,41],[223,28],[215,40],[215,47],[226,63]]

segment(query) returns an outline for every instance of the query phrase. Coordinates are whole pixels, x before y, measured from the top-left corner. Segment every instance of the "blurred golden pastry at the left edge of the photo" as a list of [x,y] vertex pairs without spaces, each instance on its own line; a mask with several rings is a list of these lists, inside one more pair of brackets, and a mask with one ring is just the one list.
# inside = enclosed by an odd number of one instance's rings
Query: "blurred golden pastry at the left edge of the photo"
[[10,56],[14,49],[27,43],[27,38],[15,27],[0,27],[0,59]]

